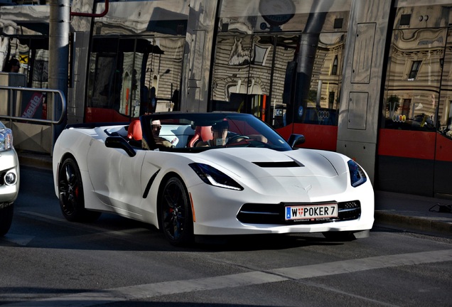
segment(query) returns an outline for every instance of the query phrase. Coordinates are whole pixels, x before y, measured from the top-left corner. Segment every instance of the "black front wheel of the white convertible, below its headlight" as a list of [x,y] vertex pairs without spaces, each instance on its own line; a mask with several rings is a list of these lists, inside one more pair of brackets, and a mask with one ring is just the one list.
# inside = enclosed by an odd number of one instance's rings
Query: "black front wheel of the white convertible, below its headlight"
[[192,244],[193,215],[188,192],[181,179],[172,177],[166,181],[158,204],[161,230],[168,242],[175,246]]

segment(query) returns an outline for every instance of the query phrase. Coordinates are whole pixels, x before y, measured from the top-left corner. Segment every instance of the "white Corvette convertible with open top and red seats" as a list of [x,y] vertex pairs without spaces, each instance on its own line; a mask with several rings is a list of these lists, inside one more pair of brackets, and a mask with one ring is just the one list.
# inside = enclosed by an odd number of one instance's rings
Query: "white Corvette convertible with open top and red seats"
[[296,149],[249,114],[144,115],[67,126],[53,151],[55,193],[70,221],[100,212],[155,225],[171,244],[198,235],[321,232],[367,237],[374,191],[362,168],[330,151]]

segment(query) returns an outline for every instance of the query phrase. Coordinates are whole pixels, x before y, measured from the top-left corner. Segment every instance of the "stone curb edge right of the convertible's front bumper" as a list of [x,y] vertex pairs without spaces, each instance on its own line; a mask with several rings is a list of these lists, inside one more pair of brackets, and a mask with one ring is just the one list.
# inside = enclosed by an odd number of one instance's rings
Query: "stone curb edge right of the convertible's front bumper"
[[375,222],[411,230],[441,232],[445,235],[452,235],[452,222],[441,222],[420,217],[397,215],[378,210],[375,210]]

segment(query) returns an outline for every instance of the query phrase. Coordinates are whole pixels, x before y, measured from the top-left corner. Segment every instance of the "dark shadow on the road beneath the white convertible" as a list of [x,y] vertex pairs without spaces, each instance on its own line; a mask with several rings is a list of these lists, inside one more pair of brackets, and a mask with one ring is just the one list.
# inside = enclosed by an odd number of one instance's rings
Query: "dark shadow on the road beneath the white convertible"
[[233,252],[350,243],[352,242],[335,242],[318,233],[197,236],[194,244],[176,247],[156,227],[117,215],[102,214],[96,222],[79,223],[59,217],[50,218],[48,215],[31,215],[28,212],[16,212],[9,234],[0,238],[0,246],[145,252]]

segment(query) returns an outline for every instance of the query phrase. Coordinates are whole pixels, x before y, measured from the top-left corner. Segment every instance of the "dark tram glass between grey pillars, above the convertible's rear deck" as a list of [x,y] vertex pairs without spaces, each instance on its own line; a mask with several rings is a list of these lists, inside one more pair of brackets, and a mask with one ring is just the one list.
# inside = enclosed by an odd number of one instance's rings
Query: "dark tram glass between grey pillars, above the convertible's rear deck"
[[172,110],[178,102],[184,38],[95,38],[87,107],[125,117]]

